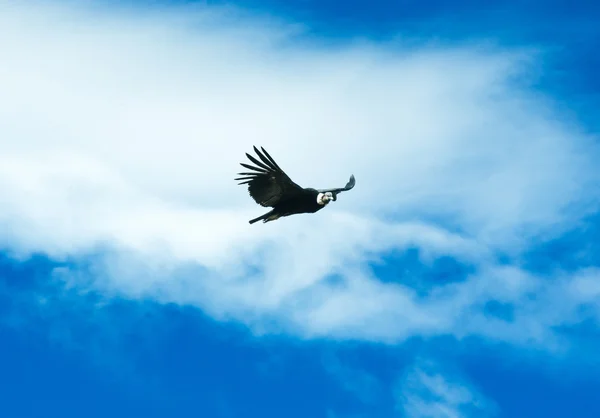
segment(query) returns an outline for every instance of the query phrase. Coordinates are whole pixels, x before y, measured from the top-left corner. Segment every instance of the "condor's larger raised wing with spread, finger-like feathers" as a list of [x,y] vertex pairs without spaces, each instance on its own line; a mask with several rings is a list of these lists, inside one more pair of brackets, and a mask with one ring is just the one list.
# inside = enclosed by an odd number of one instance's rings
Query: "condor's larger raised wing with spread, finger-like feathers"
[[256,166],[240,163],[242,167],[252,172],[238,173],[238,184],[248,184],[248,193],[256,203],[261,206],[273,206],[277,203],[304,192],[304,189],[294,183],[292,179],[277,165],[273,157],[261,147],[262,153],[254,147],[254,152],[261,161],[246,153],[246,156]]

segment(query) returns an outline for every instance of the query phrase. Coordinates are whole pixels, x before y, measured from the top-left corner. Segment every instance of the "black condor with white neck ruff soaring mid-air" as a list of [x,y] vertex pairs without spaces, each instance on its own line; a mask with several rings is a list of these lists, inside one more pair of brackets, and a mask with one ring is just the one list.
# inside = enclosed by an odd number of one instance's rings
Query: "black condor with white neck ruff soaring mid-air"
[[246,156],[256,166],[240,163],[242,167],[248,168],[252,172],[238,173],[243,177],[235,179],[241,180],[238,183],[240,185],[248,185],[248,193],[256,203],[273,208],[264,215],[251,219],[249,221],[251,224],[261,220],[266,223],[282,216],[299,213],[315,213],[327,206],[330,201],[336,201],[338,193],[352,189],[356,183],[354,175],[351,175],[346,186],[337,189],[302,188],[283,172],[263,147],[261,150],[262,153],[254,147],[254,151],[262,162],[246,153]]

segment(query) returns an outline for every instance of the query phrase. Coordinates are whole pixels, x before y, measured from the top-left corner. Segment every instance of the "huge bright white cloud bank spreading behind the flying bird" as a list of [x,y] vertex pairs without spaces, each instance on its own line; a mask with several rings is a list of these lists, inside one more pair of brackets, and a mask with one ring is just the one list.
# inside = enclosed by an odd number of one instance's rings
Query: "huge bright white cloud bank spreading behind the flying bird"
[[[481,313],[548,286],[495,266],[497,251],[596,209],[594,138],[513,82],[534,55],[335,49],[298,31],[232,9],[0,1],[2,244],[107,250],[99,289],[256,332],[550,333],[543,312],[508,325]],[[248,225],[265,210],[233,178],[254,144],[302,185],[357,185],[319,214]],[[369,261],[409,245],[480,271],[427,297],[373,277]]]

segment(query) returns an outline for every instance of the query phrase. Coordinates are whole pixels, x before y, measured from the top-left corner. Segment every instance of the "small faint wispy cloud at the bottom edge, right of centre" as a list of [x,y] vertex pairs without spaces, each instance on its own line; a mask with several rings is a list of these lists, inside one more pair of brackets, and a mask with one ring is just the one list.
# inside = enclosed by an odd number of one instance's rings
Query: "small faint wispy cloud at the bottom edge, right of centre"
[[497,412],[493,401],[439,366],[419,360],[398,383],[397,408],[406,418],[490,417]]

